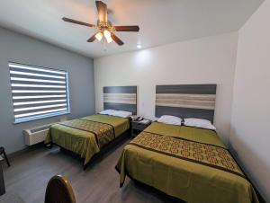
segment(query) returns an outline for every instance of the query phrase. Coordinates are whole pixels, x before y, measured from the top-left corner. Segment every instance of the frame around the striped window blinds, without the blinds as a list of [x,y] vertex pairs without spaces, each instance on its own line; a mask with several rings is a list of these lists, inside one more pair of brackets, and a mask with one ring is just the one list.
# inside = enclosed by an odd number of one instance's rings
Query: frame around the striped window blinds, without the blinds
[[[65,76],[66,76],[66,99],[67,99],[67,110],[66,111],[57,111],[57,112],[49,112],[49,113],[44,113],[44,114],[40,114],[40,115],[35,115],[35,116],[29,116],[29,117],[25,117],[25,118],[15,118],[15,114],[14,114],[14,124],[19,124],[19,123],[24,123],[24,122],[29,122],[29,121],[33,121],[33,120],[38,120],[38,119],[48,119],[48,118],[52,118],[52,117],[57,117],[57,116],[63,116],[63,115],[67,115],[71,113],[70,110],[70,94],[69,94],[69,75],[68,72],[66,70],[61,70],[58,68],[51,68],[51,67],[47,67],[47,66],[36,66],[36,65],[28,65],[28,64],[23,64],[23,63],[18,63],[18,62],[13,62],[13,61],[9,61],[8,62],[8,68],[9,68],[9,79],[10,79],[10,87],[11,87],[11,96],[12,96],[12,104],[13,104],[13,108],[14,108],[14,95],[13,95],[13,87],[12,87],[12,78],[11,78],[11,65],[15,65],[15,66],[29,66],[32,68],[37,68],[40,69],[40,71],[42,71],[42,69],[47,69],[47,70],[51,70],[51,71],[58,71],[58,72],[64,72]],[[14,113],[14,109],[13,109],[13,113]]]

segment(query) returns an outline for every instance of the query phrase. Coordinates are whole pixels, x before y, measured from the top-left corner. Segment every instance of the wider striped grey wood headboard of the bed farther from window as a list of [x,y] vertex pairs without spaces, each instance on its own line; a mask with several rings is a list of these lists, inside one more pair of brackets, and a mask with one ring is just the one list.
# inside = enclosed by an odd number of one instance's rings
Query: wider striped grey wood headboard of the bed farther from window
[[208,119],[213,122],[216,84],[178,84],[156,86],[156,117]]

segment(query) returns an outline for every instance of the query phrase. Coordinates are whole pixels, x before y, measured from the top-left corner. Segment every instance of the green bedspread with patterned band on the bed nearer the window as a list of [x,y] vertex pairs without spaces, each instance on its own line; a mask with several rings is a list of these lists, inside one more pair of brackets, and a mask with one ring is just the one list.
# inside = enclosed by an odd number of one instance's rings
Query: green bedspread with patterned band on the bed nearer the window
[[129,128],[129,119],[92,115],[53,125],[49,128],[45,144],[54,143],[80,154],[86,164],[103,146]]

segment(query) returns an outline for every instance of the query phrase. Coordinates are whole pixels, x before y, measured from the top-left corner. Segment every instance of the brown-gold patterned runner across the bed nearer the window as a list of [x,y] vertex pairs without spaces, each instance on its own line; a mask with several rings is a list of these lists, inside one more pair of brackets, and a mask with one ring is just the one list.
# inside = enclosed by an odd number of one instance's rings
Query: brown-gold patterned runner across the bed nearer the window
[[113,126],[107,123],[87,119],[73,119],[61,122],[59,125],[93,133],[100,148],[115,138]]

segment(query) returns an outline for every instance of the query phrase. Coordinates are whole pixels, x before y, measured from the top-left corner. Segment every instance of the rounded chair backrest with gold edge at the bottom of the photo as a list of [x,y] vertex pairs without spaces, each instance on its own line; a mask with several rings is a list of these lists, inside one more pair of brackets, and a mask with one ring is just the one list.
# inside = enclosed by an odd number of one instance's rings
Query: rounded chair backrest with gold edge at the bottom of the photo
[[45,203],[76,203],[72,187],[65,176],[56,175],[49,180]]

